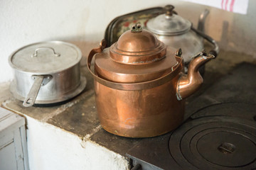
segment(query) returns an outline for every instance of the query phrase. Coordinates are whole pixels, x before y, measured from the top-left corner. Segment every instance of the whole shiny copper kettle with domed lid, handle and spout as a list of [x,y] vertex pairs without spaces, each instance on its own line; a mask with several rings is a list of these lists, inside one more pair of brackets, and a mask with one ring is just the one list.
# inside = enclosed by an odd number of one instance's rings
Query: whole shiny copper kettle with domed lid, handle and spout
[[[87,57],[94,77],[97,113],[102,128],[124,137],[154,137],[183,121],[184,98],[203,79],[198,67],[213,55],[200,54],[182,74],[181,50],[166,47],[139,24],[105,49],[106,41]],[[91,70],[95,57],[95,72]]]

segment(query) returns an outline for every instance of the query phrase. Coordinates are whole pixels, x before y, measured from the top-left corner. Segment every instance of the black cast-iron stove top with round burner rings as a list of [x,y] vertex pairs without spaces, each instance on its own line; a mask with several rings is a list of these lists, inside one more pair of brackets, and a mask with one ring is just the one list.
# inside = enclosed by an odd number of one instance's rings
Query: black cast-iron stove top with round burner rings
[[238,65],[188,103],[180,127],[129,149],[133,169],[256,169],[255,73]]

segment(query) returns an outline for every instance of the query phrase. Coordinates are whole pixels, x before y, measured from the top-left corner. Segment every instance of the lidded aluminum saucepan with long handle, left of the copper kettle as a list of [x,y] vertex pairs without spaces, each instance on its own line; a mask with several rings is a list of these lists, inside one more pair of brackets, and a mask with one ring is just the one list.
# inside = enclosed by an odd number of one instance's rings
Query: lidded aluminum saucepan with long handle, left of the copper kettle
[[78,47],[68,42],[38,42],[16,50],[9,57],[14,69],[11,93],[23,106],[58,103],[80,94],[86,79],[80,76]]

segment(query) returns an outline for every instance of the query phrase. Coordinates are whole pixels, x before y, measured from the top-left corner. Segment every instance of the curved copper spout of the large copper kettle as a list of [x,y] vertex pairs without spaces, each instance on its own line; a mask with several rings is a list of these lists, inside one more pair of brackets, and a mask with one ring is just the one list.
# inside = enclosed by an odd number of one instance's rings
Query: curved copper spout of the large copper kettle
[[181,77],[177,82],[176,96],[179,101],[183,98],[191,96],[191,94],[197,91],[201,84],[203,84],[203,78],[198,72],[198,69],[201,67],[201,65],[206,64],[206,62],[214,57],[214,55],[203,54],[191,61],[191,63],[188,65],[188,74],[181,74]]

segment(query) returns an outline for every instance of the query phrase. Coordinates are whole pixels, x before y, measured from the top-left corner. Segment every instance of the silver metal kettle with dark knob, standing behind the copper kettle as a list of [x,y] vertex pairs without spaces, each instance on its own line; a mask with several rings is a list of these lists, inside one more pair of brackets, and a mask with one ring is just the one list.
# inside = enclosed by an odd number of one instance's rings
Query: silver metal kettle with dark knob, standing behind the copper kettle
[[[206,16],[209,13],[207,9],[201,13],[198,30],[192,27],[190,21],[178,16],[174,11],[174,6],[167,5],[164,7],[164,11],[166,11],[164,14],[151,18],[146,23],[146,29],[154,33],[156,38],[166,45],[182,49],[185,72],[187,72],[187,66],[193,60],[193,56],[204,50],[203,38],[215,46],[209,53],[215,55],[215,57],[218,55],[218,44],[213,38],[203,33]],[[204,67],[202,72],[204,72]]]

